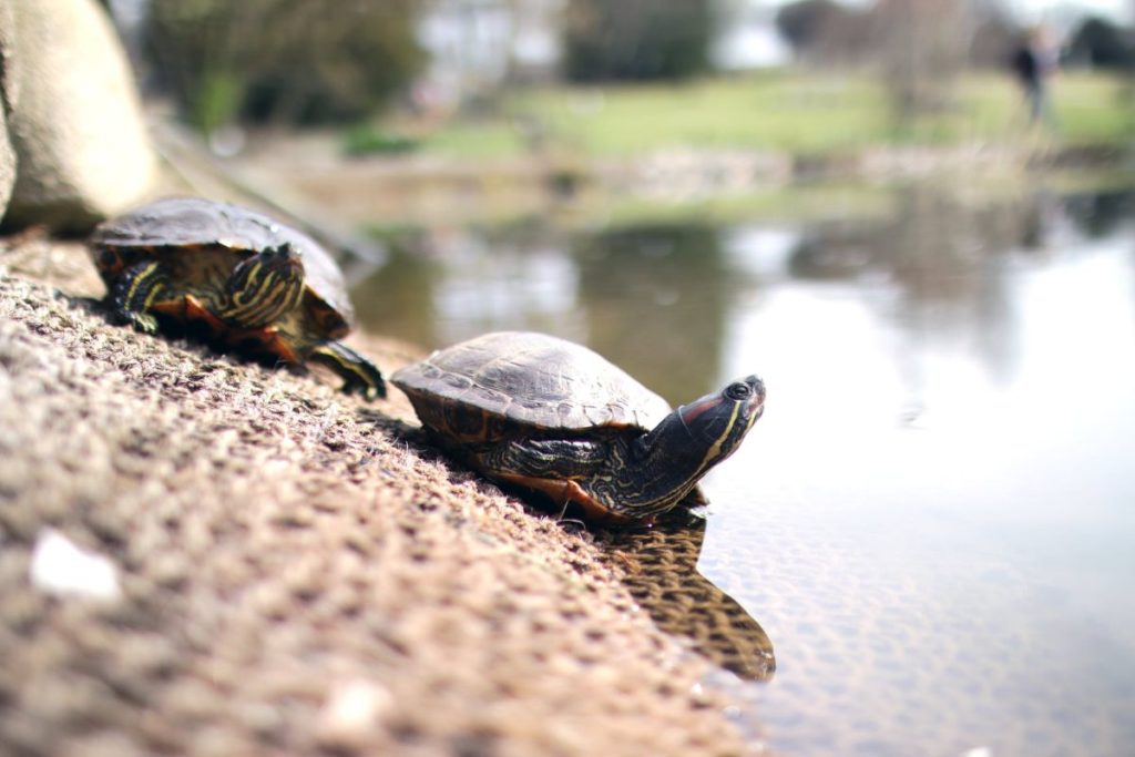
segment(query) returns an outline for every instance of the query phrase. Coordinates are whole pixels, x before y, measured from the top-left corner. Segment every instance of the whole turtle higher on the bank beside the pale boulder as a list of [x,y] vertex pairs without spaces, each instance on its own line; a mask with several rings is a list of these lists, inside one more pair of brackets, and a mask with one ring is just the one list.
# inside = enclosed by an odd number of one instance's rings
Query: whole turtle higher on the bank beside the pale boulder
[[117,321],[150,334],[161,320],[203,325],[215,342],[321,363],[347,394],[386,396],[378,368],[338,340],[353,308],[310,236],[239,205],[165,197],[103,221],[89,246]]

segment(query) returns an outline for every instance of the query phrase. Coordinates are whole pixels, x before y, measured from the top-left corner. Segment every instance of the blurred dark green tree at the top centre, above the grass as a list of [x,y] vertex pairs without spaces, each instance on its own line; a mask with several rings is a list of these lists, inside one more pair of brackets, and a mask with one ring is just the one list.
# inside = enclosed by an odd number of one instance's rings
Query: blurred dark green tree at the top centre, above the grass
[[673,79],[705,72],[713,31],[711,5],[711,0],[568,0],[568,78]]

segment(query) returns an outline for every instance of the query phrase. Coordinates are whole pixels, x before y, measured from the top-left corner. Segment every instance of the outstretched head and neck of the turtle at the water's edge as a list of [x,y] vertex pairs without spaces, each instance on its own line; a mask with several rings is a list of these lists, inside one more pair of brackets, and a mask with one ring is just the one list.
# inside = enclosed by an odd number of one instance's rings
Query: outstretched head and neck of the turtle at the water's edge
[[646,518],[670,510],[706,472],[729,457],[765,409],[765,385],[756,376],[682,405],[636,441],[632,460],[649,481],[625,510]]

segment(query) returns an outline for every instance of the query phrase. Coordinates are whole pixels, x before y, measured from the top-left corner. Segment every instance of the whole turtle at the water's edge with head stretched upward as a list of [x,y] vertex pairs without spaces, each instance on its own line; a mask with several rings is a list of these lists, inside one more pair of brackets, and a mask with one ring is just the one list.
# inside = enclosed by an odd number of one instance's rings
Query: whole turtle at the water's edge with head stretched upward
[[650,524],[732,454],[764,412],[756,376],[672,410],[588,347],[497,331],[390,381],[452,456],[489,479],[575,503],[597,523]]

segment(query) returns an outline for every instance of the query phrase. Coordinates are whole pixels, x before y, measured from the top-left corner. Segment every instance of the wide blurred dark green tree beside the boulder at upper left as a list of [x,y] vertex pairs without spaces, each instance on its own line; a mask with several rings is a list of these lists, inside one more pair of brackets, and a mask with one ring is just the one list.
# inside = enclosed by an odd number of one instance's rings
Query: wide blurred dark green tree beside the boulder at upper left
[[201,132],[368,116],[424,64],[417,0],[152,0],[149,56]]

